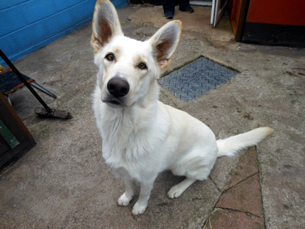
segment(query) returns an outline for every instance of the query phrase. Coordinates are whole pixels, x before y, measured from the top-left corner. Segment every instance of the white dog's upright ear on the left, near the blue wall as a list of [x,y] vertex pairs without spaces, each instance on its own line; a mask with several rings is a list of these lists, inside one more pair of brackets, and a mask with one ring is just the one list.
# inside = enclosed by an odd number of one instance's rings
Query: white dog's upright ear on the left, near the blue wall
[[91,45],[94,52],[98,52],[112,37],[122,34],[116,10],[109,0],[97,1],[92,30]]

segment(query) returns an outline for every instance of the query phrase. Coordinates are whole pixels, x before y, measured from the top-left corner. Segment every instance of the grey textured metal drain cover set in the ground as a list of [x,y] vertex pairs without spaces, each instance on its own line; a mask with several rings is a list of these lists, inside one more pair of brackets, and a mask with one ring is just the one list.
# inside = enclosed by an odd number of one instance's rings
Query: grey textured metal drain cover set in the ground
[[162,77],[159,82],[178,99],[189,102],[218,88],[235,74],[236,72],[201,57]]

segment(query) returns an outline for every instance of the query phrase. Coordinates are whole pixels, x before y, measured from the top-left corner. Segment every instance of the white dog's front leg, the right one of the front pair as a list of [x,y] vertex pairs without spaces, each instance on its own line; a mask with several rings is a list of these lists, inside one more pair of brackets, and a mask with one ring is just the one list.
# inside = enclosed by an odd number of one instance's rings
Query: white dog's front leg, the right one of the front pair
[[140,185],[141,185],[140,195],[139,195],[139,199],[138,199],[137,203],[134,205],[134,207],[132,209],[132,214],[139,215],[145,211],[147,204],[148,204],[150,191],[151,191],[151,189],[153,189],[155,179],[156,178],[151,179],[149,181],[140,182]]

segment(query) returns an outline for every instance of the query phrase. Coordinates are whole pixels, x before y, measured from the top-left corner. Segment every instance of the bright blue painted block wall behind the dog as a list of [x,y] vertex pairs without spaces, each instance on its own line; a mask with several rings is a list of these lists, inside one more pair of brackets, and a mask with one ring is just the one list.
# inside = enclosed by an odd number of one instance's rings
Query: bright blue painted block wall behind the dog
[[[111,0],[118,9],[127,0]],[[11,61],[92,20],[96,0],[0,0],[0,48]],[[0,58],[0,64],[6,64]]]

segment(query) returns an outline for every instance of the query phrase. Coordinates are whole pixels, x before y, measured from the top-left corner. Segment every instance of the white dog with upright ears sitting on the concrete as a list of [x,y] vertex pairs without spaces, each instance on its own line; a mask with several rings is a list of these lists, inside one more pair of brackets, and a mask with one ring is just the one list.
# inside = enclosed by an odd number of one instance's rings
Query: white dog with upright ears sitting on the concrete
[[161,171],[187,177],[168,192],[170,198],[178,197],[196,180],[207,179],[217,157],[234,155],[273,131],[262,127],[216,140],[205,124],[158,101],[157,79],[180,34],[181,22],[176,20],[144,42],[125,37],[113,5],[108,0],[96,3],[91,40],[98,67],[94,111],[103,157],[126,185],[118,205],[128,205],[135,182],[140,183],[134,215],[145,211]]

